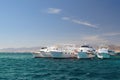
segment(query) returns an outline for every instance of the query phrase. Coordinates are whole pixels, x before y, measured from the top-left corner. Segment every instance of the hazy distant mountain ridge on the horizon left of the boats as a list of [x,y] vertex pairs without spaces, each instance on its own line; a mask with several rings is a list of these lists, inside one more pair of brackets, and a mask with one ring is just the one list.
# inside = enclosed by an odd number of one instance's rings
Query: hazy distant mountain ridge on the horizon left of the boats
[[31,47],[31,48],[3,48],[0,52],[35,52],[39,51],[41,47]]

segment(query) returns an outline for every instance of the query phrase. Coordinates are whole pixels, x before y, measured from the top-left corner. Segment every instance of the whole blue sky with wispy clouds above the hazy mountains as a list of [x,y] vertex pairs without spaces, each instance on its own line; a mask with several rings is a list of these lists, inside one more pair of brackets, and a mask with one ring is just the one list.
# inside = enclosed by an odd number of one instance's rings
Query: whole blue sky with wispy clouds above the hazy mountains
[[120,0],[0,0],[0,48],[120,45]]

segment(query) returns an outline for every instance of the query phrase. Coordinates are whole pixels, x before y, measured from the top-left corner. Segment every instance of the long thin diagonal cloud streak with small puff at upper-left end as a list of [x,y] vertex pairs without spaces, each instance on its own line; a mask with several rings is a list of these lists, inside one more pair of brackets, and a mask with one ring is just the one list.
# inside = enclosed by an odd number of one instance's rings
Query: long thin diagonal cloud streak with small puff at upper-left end
[[80,21],[80,20],[77,20],[77,19],[71,19],[69,17],[62,17],[62,20],[69,20],[73,23],[76,23],[76,24],[80,24],[80,25],[84,25],[84,26],[88,26],[88,27],[92,27],[92,28],[98,28],[98,26],[96,26],[95,24],[92,24],[90,22],[85,22],[85,21]]

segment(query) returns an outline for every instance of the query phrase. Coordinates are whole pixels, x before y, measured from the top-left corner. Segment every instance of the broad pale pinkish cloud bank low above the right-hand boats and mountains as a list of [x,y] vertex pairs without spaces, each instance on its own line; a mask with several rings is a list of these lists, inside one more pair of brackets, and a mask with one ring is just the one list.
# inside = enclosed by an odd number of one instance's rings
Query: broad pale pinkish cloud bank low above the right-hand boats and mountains
[[[105,34],[101,34],[101,35],[89,35],[89,36],[84,36],[81,38],[81,40],[84,43],[89,43],[89,44],[97,44],[97,45],[109,45],[109,44],[115,44],[115,45],[119,45],[119,40],[114,39],[114,41],[112,40],[112,37],[114,36],[119,36],[120,33],[119,32],[112,32],[112,33],[105,33]],[[108,38],[111,37],[111,38]],[[119,38],[119,37],[118,37]]]

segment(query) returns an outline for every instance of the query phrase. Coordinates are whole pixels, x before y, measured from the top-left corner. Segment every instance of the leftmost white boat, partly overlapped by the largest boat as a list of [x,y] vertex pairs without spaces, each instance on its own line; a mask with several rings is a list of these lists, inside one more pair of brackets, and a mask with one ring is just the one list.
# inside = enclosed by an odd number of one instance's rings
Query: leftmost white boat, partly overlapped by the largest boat
[[35,58],[45,58],[45,57],[50,58],[51,57],[50,49],[48,47],[42,47],[40,51],[34,52],[33,56]]

